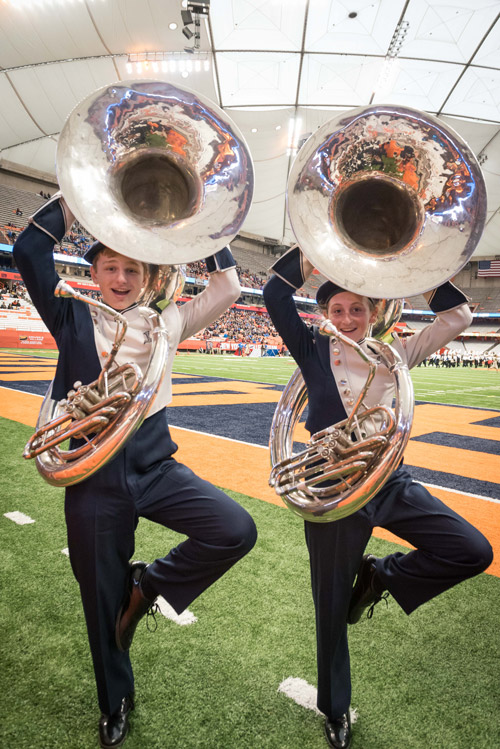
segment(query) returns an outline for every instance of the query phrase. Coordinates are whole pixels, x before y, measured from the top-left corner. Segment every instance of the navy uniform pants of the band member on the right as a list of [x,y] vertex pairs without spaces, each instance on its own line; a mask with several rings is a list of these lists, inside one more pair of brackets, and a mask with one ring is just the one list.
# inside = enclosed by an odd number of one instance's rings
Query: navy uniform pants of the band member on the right
[[329,718],[347,712],[351,675],[346,618],[352,586],[375,526],[415,546],[377,562],[380,580],[401,608],[418,606],[483,572],[493,559],[488,540],[404,468],[361,510],[332,523],[305,523],[316,612],[318,708]]

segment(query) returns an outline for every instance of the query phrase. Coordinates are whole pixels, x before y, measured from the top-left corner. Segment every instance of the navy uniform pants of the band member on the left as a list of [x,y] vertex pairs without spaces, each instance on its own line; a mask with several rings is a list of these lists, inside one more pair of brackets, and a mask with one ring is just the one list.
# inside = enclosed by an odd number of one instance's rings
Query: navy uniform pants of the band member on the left
[[[155,439],[158,428],[162,431]],[[115,621],[139,518],[188,537],[153,561],[147,573],[148,590],[162,595],[177,613],[249,552],[257,537],[251,516],[237,502],[173,457],[158,460],[166,434],[161,413],[147,419],[139,437],[113,460],[66,489],[70,560],[80,586],[99,706],[108,715],[134,688],[129,653],[115,644]]]

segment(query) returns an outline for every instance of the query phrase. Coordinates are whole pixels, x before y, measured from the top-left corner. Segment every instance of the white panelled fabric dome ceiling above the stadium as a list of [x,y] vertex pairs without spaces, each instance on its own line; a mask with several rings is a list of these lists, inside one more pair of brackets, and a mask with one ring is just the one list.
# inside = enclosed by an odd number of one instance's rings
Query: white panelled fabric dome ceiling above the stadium
[[[488,220],[475,257],[493,257],[500,254],[499,14],[500,0],[212,0],[200,29],[210,70],[183,78],[150,66],[144,75],[194,89],[234,119],[256,173],[242,229],[284,243],[293,241],[285,200],[291,118],[304,136],[338,110],[369,104],[437,115],[483,164]],[[0,158],[55,173],[69,112],[100,86],[137,77],[127,73],[128,54],[193,59],[182,25],[180,0],[3,0]]]

